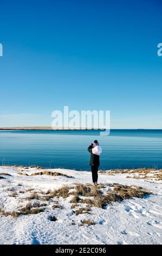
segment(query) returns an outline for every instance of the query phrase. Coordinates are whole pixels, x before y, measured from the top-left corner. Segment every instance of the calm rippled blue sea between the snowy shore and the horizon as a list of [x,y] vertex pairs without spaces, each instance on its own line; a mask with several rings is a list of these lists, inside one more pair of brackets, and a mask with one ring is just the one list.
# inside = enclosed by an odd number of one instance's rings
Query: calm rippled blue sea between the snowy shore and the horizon
[[100,169],[162,168],[162,130],[0,131],[0,165],[90,170],[87,151],[98,139]]

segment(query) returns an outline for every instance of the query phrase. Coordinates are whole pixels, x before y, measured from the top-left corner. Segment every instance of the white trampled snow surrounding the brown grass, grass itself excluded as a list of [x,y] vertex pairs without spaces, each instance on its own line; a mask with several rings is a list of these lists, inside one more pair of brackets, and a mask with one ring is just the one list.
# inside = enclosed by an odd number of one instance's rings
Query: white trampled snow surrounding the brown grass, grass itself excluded
[[[44,169],[23,167],[0,167],[0,209],[5,212],[17,211],[29,203],[32,193],[46,193],[63,185],[92,182],[90,172],[67,169],[47,169],[73,176],[32,175]],[[18,173],[26,173],[21,175]],[[7,175],[10,174],[11,176]],[[99,174],[99,183],[109,189],[109,183],[136,185],[150,190],[153,194],[144,198],[126,199],[121,203],[108,204],[104,209],[92,207],[90,214],[74,213],[68,198],[56,199],[62,209],[55,208],[55,201],[46,202],[44,211],[19,217],[0,215],[1,244],[160,244],[161,181],[135,179],[128,174]],[[134,174],[133,174],[134,175]],[[130,178],[131,176],[131,178]],[[30,202],[38,203],[38,199]],[[44,203],[44,202],[42,202]],[[80,203],[82,206],[82,204]],[[43,206],[42,206],[43,208]],[[56,221],[50,221],[55,216]],[[82,220],[93,220],[94,225],[81,225]]]

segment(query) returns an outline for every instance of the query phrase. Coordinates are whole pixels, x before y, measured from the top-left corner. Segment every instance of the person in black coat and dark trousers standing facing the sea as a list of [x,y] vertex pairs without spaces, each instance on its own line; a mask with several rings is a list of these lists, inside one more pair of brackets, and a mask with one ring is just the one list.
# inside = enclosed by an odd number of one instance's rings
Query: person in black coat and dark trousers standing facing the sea
[[102,148],[100,147],[97,140],[94,141],[89,147],[88,151],[90,153],[90,163],[92,171],[92,180],[95,186],[98,185],[98,169],[100,166],[100,154],[102,153]]

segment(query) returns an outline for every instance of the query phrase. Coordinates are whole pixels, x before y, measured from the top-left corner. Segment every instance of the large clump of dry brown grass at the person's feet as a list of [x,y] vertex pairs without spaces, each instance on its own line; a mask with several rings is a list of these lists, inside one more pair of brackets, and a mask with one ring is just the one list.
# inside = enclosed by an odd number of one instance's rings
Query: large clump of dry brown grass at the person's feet
[[[107,191],[106,194],[102,194],[102,191],[99,187],[93,186],[91,184],[75,184],[73,186],[73,191],[70,191],[72,189],[72,186],[65,185],[59,188],[58,190],[49,191],[49,194],[47,194],[46,197],[39,198],[37,193],[33,193],[30,197],[28,197],[28,200],[50,200],[51,198],[54,197],[63,197],[65,199],[68,198],[70,195],[73,195],[74,197],[70,201],[70,203],[73,203],[72,208],[74,208],[77,205],[77,203],[85,203],[88,205],[87,207],[89,207],[90,205],[99,208],[104,208],[104,206],[106,206],[107,204],[111,204],[112,202],[121,202],[124,199],[129,199],[133,197],[143,197],[146,194],[151,194],[150,191],[144,190],[138,186],[119,185],[116,183],[108,184],[108,186],[112,187],[113,190]],[[102,189],[102,185],[100,187]],[[80,196],[84,196],[87,198],[80,198]],[[93,197],[93,199],[89,197]],[[53,206],[53,208],[56,207],[57,206]]]

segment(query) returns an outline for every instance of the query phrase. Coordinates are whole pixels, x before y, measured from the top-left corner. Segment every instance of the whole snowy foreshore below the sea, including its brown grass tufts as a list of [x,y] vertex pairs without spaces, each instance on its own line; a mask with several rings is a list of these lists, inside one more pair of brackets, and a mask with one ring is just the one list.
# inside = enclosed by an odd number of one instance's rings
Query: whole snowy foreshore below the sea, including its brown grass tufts
[[2,166],[0,243],[159,244],[160,175],[103,171],[94,188],[86,171]]

